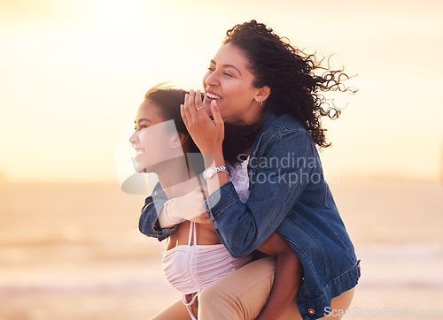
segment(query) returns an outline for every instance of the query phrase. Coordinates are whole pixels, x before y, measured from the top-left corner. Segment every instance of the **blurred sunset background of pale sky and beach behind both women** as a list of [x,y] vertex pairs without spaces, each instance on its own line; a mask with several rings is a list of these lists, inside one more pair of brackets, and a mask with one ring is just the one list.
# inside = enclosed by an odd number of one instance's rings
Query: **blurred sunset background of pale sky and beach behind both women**
[[145,319],[180,299],[114,148],[159,82],[201,88],[258,19],[356,75],[325,175],[361,259],[346,317],[443,318],[443,4],[0,0],[0,319]]

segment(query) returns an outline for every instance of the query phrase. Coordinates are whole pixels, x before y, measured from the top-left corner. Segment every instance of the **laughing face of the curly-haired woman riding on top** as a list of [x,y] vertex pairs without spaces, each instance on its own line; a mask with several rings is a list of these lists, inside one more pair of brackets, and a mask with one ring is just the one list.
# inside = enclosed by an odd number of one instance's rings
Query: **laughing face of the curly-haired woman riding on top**
[[226,122],[260,120],[264,101],[262,88],[253,86],[254,76],[248,70],[249,61],[242,50],[227,43],[221,46],[203,78],[205,99],[203,105],[211,114],[210,104],[216,100],[221,117]]

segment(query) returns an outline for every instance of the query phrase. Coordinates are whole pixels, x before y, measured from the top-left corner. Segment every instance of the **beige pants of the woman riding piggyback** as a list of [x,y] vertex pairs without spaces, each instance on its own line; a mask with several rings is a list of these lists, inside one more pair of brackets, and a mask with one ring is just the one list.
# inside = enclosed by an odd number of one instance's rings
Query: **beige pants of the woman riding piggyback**
[[[275,272],[276,259],[269,257],[246,264],[243,268],[214,282],[198,297],[198,319],[255,319],[268,300]],[[332,299],[331,308],[348,309],[353,296],[354,288]],[[180,300],[152,319],[189,320],[190,315]],[[283,315],[278,319],[301,319],[295,300],[291,306],[284,309]],[[339,319],[339,317],[329,316],[328,319]]]

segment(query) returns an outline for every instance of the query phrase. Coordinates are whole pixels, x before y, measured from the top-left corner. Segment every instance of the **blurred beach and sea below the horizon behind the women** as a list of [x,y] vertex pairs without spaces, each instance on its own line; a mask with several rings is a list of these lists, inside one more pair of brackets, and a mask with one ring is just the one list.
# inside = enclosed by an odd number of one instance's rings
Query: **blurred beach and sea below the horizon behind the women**
[[[443,319],[439,181],[330,184],[361,280],[344,318]],[[147,319],[179,300],[165,243],[138,231],[144,195],[115,183],[0,184],[0,319]]]

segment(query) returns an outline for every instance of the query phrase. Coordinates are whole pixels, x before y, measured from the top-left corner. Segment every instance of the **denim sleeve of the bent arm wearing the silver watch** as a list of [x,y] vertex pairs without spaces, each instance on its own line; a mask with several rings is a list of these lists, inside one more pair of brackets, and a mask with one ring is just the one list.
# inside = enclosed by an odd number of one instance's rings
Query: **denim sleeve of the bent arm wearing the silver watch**
[[[297,159],[312,158],[315,148],[307,134],[300,128],[286,129],[266,139],[266,145],[260,147],[264,153],[250,158],[247,202],[240,201],[230,182],[206,198],[215,230],[234,257],[250,254],[267,240],[299,199],[312,168]],[[283,157],[291,165],[272,165]]]

